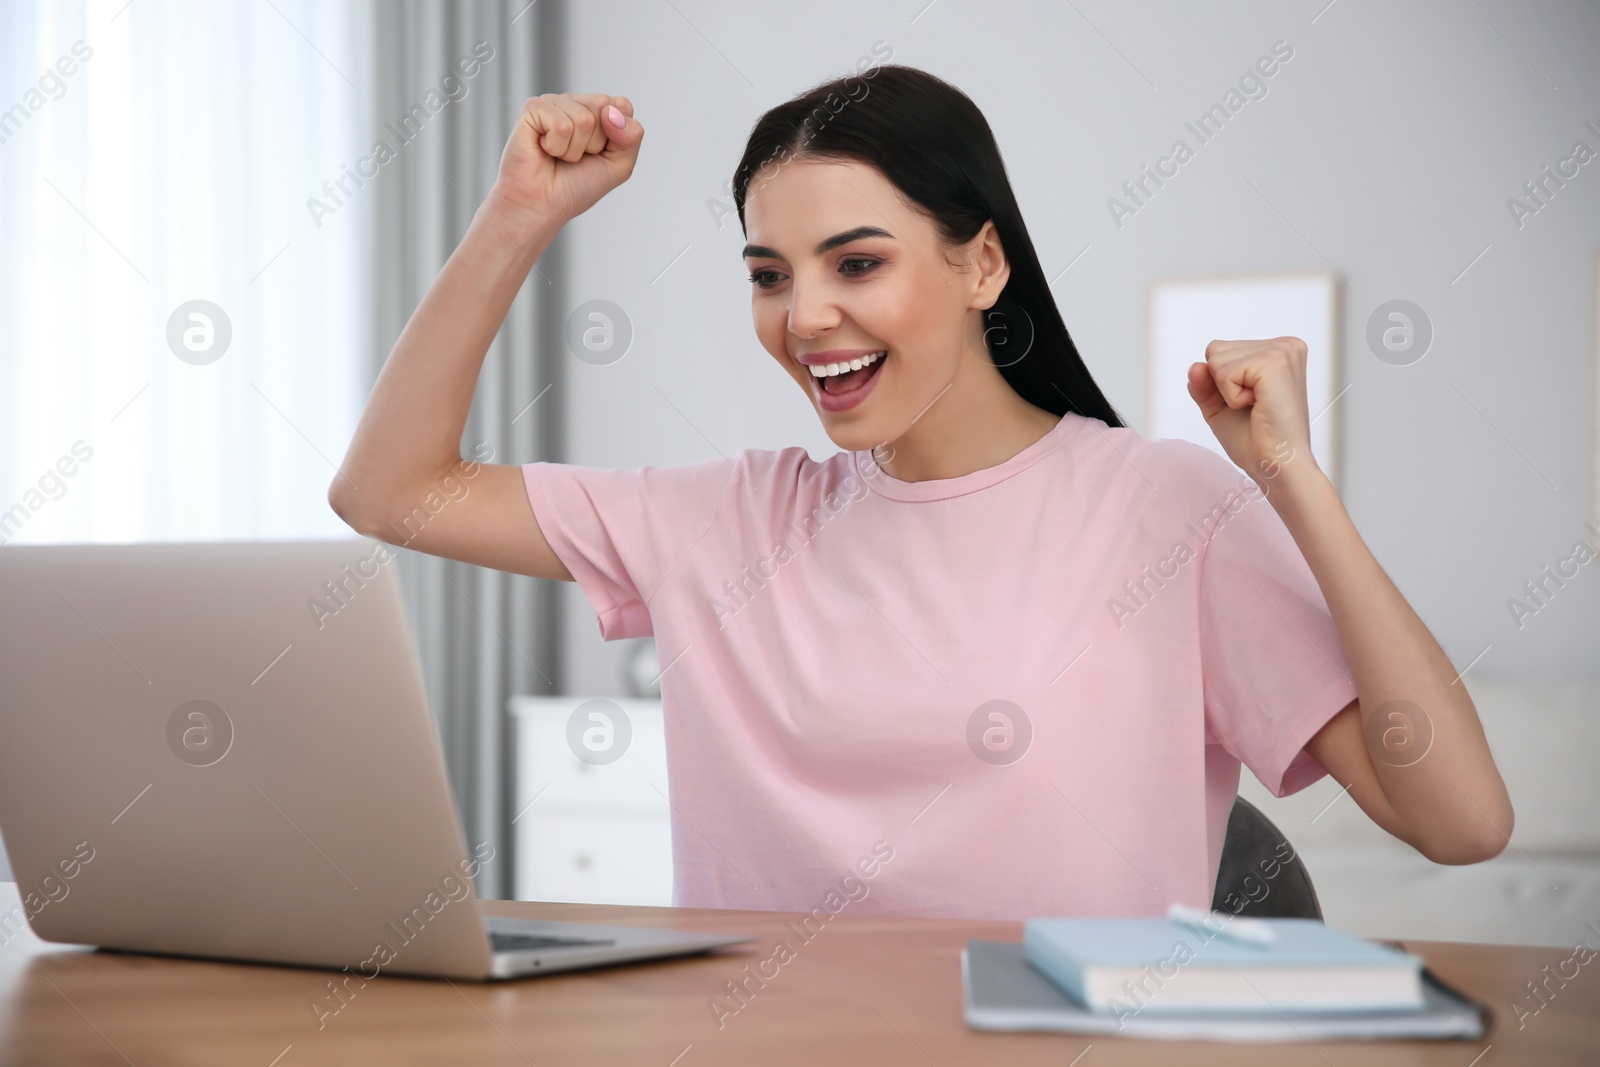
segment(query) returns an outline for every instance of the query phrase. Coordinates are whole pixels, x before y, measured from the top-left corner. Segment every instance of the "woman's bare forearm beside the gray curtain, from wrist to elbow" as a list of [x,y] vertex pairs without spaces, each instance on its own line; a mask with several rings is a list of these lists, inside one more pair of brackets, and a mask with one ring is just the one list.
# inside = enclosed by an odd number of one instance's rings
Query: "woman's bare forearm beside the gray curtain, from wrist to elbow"
[[483,357],[558,230],[485,198],[378,374],[328,490],[334,510],[381,518],[461,461]]

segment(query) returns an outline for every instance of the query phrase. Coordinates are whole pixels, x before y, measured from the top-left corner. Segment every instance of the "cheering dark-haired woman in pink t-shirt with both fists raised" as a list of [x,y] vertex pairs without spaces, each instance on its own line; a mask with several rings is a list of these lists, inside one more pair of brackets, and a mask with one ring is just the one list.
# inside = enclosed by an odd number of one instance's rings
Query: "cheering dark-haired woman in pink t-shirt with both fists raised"
[[[330,486],[357,531],[392,541],[464,462],[512,298],[642,138],[622,96],[526,102]],[[765,114],[734,202],[755,334],[842,451],[482,466],[406,541],[576,581],[606,640],[654,633],[677,904],[1205,907],[1242,761],[1280,797],[1331,774],[1435,862],[1504,848],[1466,685],[1312,458],[1298,338],[1190,366],[1232,464],[1141,438],[982,114],[910,67]]]

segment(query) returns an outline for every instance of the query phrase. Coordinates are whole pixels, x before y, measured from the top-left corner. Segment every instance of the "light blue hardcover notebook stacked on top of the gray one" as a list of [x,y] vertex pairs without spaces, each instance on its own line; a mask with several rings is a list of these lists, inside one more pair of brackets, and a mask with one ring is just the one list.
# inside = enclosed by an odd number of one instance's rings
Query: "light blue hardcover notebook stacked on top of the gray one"
[[1314,918],[1254,920],[1274,944],[1168,918],[1034,918],[1027,963],[1091,1013],[1370,1013],[1424,1008],[1422,960]]

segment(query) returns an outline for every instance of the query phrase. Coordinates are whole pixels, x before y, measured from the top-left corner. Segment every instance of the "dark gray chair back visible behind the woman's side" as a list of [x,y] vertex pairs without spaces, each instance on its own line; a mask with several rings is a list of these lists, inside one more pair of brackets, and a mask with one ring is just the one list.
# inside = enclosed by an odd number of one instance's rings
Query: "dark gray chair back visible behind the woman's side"
[[1283,832],[1243,797],[1234,798],[1227,816],[1211,909],[1230,915],[1322,918],[1306,864]]

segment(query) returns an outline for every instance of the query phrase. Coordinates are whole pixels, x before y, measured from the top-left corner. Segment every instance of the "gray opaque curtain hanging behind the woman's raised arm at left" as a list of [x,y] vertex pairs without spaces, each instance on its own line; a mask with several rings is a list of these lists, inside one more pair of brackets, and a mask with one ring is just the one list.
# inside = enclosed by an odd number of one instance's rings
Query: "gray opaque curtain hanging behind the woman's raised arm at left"
[[[373,195],[370,381],[413,309],[466,234],[494,181],[522,104],[562,85],[560,0],[374,0],[371,130],[395,157]],[[494,51],[470,78],[458,62]],[[454,75],[458,83],[446,83]],[[461,94],[461,85],[466,94]],[[429,93],[435,93],[429,101]],[[454,98],[454,99],[451,99]],[[440,102],[440,101],[445,102]],[[437,112],[429,112],[429,104]],[[421,112],[413,110],[422,106]],[[406,115],[410,125],[403,125]],[[400,147],[403,146],[403,147]],[[363,150],[371,150],[363,146]],[[560,459],[560,238],[538,261],[490,347],[462,435],[462,456],[490,462]],[[528,406],[541,390],[544,395]],[[438,723],[467,846],[494,846],[478,894],[512,894],[512,694],[560,693],[554,582],[419,552],[395,561]]]

